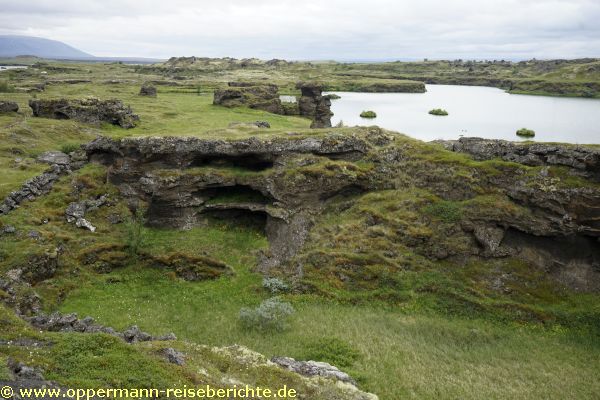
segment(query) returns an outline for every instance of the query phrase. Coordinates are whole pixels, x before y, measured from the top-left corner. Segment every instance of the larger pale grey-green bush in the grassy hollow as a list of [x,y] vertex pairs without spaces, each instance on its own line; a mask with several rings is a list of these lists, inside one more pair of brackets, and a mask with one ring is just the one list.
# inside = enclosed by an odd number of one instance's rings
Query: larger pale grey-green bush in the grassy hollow
[[254,309],[242,308],[239,318],[245,329],[282,331],[293,313],[294,308],[290,303],[271,297]]

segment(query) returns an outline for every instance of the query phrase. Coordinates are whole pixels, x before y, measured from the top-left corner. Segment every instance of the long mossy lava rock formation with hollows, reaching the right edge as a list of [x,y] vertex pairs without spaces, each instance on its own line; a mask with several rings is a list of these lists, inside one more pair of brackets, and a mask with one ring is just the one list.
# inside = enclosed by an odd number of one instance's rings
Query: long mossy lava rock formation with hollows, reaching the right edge
[[[574,166],[568,171],[522,169],[501,161],[498,166],[466,160],[448,164],[425,156],[444,150],[399,138],[379,128],[243,140],[99,138],[86,151],[91,161],[108,166],[108,179],[132,207],[140,201],[148,205],[150,225],[188,229],[219,218],[264,229],[270,249],[262,257],[263,271],[301,274],[307,263],[327,264],[326,252],[318,250],[318,257],[303,252],[339,246],[334,243],[342,228],[320,225],[325,214],[340,212],[328,208],[332,202],[362,210],[361,199],[373,193],[416,193],[398,200],[408,212],[403,220],[372,205],[369,212],[359,211],[351,218],[364,219],[365,226],[355,229],[380,226],[383,236],[373,241],[355,231],[355,243],[344,246],[368,254],[385,239],[390,257],[402,257],[393,249],[405,246],[432,261],[457,263],[469,257],[515,257],[576,290],[600,290],[600,189],[577,175],[575,156],[561,162]],[[441,220],[432,219],[419,205],[431,198],[461,211],[454,215],[441,208],[432,211],[441,213]],[[430,233],[411,234],[418,226]],[[315,228],[318,235],[312,234]]]

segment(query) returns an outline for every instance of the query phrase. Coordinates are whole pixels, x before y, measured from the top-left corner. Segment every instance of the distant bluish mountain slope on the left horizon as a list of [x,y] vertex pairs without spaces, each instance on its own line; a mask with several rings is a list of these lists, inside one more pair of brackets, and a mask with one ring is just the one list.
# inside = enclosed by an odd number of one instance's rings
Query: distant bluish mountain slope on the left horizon
[[93,59],[93,55],[57,40],[0,35],[0,57],[37,56],[51,59]]

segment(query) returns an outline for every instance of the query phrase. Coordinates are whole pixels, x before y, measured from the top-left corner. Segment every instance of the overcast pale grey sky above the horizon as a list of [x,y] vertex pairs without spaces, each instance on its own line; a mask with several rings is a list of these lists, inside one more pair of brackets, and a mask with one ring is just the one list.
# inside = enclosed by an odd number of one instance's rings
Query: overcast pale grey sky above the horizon
[[600,57],[600,0],[0,0],[0,34],[96,56]]

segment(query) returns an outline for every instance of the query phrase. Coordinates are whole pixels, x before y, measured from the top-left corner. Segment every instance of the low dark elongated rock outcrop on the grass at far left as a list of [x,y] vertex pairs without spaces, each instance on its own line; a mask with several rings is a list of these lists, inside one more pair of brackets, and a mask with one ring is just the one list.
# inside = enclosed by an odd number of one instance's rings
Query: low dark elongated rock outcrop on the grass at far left
[[117,99],[31,99],[29,106],[35,117],[74,119],[96,125],[108,122],[126,129],[135,127],[140,119],[130,107]]

